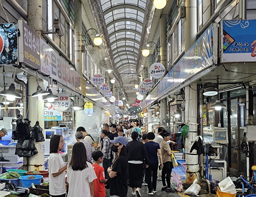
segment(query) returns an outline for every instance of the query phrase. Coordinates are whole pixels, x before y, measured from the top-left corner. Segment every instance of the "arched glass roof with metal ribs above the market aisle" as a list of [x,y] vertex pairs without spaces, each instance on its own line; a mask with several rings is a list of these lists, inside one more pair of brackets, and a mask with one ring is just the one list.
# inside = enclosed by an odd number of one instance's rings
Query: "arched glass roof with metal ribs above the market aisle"
[[[136,63],[147,0],[101,0],[115,66],[125,83],[136,83]],[[132,74],[131,74],[132,73]]]

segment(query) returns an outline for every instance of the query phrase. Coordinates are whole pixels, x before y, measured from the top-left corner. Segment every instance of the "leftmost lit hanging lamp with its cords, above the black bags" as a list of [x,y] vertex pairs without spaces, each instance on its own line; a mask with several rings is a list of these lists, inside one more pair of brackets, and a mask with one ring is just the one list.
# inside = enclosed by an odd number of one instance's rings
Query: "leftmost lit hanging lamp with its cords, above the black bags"
[[15,100],[15,98],[21,98],[21,95],[19,93],[15,92],[15,85],[14,85],[14,79],[16,74],[16,67],[14,67],[14,74],[12,76],[12,83],[9,86],[8,90],[5,90],[5,71],[3,68],[3,81],[4,81],[4,90],[0,92],[0,95],[6,96],[7,100]]

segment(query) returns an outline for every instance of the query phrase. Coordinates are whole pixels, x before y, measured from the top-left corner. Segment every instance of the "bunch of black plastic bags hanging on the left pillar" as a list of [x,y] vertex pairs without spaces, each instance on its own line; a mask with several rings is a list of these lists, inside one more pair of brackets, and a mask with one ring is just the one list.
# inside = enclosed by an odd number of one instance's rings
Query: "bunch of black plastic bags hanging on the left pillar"
[[31,157],[38,153],[35,147],[36,142],[45,141],[43,129],[37,121],[35,126],[30,126],[30,119],[23,118],[21,114],[16,115],[17,119],[12,120],[12,139],[18,140],[15,155],[20,157]]

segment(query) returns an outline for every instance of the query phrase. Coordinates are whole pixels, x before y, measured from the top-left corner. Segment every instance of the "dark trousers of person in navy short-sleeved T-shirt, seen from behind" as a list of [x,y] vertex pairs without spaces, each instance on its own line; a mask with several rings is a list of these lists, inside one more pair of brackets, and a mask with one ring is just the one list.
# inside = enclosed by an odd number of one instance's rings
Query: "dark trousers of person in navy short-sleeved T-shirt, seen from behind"
[[149,192],[156,190],[158,164],[151,163],[146,168],[147,188]]

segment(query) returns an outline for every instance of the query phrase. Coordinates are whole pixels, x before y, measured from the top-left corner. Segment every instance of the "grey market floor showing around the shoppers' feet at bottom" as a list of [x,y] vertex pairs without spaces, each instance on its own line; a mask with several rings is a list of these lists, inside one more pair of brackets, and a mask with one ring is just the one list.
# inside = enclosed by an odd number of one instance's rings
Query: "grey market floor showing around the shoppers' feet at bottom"
[[[161,191],[162,188],[162,181],[157,181],[157,192],[154,193],[152,197],[191,197],[185,195],[184,193],[167,193],[165,191]],[[183,190],[185,191],[185,190]],[[140,190],[141,197],[151,197],[147,194],[148,189],[147,186],[142,186]],[[106,197],[109,197],[109,190],[106,190]],[[136,197],[132,195],[132,188],[128,187],[127,197]],[[216,197],[216,194],[200,194],[200,197]]]

